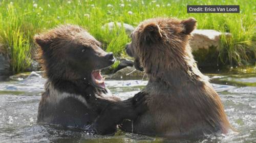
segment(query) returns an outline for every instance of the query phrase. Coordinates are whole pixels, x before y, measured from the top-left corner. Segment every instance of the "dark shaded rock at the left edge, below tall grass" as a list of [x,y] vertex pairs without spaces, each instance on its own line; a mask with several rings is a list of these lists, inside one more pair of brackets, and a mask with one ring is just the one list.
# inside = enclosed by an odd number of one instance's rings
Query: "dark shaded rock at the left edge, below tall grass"
[[8,58],[0,53],[0,80],[7,79],[12,74]]

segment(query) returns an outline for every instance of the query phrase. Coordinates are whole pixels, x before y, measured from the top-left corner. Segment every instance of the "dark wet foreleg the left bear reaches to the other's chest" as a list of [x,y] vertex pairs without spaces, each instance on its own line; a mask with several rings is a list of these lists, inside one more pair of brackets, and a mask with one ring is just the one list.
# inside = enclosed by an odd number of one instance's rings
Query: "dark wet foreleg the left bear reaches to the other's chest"
[[141,113],[147,110],[144,96],[139,92],[134,97],[109,104],[95,120],[92,129],[101,135],[113,134],[117,125],[124,119],[135,120]]

